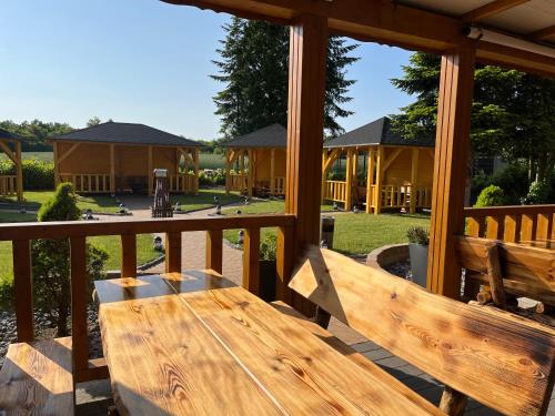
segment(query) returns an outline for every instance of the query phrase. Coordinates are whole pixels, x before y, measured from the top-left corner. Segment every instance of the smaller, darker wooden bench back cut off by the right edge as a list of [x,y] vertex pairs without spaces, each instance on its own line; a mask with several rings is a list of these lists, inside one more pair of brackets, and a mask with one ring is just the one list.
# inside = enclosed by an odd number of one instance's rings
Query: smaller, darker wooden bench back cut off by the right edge
[[457,258],[470,278],[488,285],[492,301],[506,306],[505,292],[555,306],[555,250],[460,236]]

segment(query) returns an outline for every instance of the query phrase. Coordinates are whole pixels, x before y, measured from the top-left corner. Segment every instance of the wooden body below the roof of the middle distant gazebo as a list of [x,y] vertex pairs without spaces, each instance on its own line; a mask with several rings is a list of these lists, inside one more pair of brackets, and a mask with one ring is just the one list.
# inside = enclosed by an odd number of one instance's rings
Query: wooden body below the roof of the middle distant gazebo
[[283,148],[228,149],[225,191],[246,193],[249,196],[284,195],[285,171],[286,150]]

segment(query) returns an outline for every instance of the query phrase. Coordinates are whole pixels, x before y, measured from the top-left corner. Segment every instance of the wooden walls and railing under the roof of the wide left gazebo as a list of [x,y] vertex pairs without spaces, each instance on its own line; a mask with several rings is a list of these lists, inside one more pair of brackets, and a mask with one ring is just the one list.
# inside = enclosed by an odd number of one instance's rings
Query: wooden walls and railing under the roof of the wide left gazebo
[[[71,182],[78,193],[154,192],[152,172],[167,169],[170,192],[199,192],[199,149],[52,140],[54,181]],[[184,171],[180,162],[184,160]],[[189,173],[192,170],[193,173]]]

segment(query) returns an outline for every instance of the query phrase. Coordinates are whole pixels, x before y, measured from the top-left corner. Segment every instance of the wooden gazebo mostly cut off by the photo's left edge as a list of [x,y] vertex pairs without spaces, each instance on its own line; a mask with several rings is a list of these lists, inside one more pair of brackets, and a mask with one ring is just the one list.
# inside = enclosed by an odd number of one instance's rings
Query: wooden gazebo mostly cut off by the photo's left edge
[[0,176],[0,196],[17,195],[18,201],[23,201],[23,165],[21,160],[22,136],[0,129],[0,150],[16,165],[14,175]]

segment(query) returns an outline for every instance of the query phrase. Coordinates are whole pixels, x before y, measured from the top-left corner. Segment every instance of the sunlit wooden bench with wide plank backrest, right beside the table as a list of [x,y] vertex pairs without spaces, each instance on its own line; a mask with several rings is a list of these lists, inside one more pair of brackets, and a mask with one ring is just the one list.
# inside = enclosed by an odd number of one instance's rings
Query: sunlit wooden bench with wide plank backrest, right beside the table
[[444,383],[440,408],[448,415],[461,415],[467,396],[507,415],[547,410],[555,374],[553,328],[431,294],[315,246],[307,248],[290,287],[319,306],[321,326],[327,326],[331,314]]

